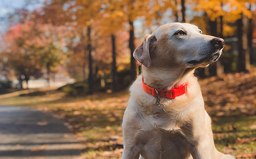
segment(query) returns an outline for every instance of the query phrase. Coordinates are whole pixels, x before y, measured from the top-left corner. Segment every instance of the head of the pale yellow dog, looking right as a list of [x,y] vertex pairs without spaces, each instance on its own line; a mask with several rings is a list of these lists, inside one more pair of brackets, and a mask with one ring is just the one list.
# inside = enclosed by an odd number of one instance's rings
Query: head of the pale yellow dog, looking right
[[171,23],[145,36],[134,57],[147,68],[206,67],[219,58],[223,45],[222,38],[203,35],[195,25]]

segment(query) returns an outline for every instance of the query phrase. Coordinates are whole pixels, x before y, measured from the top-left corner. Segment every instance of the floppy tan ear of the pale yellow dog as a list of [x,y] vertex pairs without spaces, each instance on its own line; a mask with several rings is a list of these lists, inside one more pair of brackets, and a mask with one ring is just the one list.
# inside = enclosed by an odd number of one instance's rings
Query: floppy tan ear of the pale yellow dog
[[151,66],[149,52],[155,48],[156,42],[157,38],[155,36],[146,35],[143,43],[134,51],[134,58],[147,68]]

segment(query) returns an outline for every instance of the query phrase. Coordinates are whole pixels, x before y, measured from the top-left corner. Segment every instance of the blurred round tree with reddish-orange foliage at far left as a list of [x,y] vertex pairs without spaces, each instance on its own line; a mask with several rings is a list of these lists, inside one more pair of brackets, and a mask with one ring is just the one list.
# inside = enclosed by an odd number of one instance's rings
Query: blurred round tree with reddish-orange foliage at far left
[[56,72],[65,58],[62,54],[65,35],[59,34],[64,29],[32,20],[10,27],[3,36],[6,48],[2,58],[8,59],[5,64],[16,71],[20,81],[28,82],[30,76],[39,77],[42,69],[47,70],[49,81],[50,73]]

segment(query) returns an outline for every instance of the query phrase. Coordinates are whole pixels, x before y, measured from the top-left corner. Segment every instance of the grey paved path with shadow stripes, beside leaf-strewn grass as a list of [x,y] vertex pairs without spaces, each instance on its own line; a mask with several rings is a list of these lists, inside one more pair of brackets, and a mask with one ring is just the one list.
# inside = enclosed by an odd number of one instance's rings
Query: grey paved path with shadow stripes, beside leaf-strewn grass
[[78,159],[84,146],[53,115],[0,106],[0,159]]

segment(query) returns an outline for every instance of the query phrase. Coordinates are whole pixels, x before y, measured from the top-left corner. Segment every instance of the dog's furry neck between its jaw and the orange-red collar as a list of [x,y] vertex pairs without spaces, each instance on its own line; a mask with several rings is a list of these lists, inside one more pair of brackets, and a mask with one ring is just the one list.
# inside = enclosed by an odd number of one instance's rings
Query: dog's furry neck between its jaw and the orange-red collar
[[172,89],[188,82],[193,75],[194,69],[168,70],[158,68],[146,68],[142,66],[142,76],[144,83],[157,89]]

